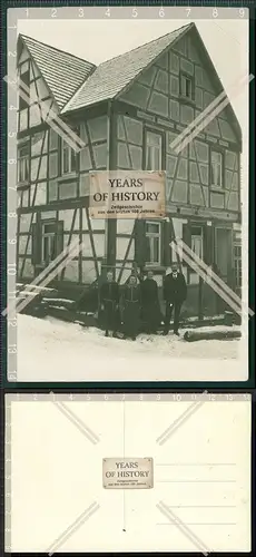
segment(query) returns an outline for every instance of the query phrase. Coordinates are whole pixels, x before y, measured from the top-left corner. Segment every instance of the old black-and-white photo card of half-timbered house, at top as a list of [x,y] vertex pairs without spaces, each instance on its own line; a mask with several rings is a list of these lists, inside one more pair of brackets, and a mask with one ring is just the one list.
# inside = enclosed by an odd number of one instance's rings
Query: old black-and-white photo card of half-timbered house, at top
[[[16,379],[246,381],[246,10],[61,10],[18,16],[13,46]],[[164,179],[151,217],[144,173]],[[91,213],[102,176],[130,213]]]

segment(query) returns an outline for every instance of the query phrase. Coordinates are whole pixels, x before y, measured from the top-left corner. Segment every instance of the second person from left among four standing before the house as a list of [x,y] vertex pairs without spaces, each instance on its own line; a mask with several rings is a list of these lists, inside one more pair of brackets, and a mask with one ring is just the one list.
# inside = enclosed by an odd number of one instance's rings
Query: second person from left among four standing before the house
[[139,332],[141,307],[140,286],[135,275],[129,277],[128,284],[124,289],[122,306],[125,338],[130,338],[135,341]]

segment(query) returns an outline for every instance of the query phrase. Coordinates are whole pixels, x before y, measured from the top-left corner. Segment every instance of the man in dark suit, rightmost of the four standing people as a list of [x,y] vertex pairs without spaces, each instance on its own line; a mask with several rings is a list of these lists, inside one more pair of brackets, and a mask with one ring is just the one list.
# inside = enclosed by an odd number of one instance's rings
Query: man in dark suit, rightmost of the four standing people
[[174,310],[174,333],[179,335],[179,316],[184,301],[187,297],[187,285],[183,273],[177,265],[173,266],[171,273],[164,281],[164,299],[166,301],[166,319],[164,334],[168,334],[170,317]]

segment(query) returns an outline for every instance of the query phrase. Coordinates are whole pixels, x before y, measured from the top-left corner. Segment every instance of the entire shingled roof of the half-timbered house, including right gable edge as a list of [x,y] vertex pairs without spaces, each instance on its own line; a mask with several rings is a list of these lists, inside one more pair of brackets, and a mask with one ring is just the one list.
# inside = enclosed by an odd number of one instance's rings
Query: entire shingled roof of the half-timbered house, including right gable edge
[[[104,100],[118,98],[142,71],[188,32],[197,41],[201,60],[208,67],[216,95],[219,95],[224,91],[223,84],[194,22],[99,66],[23,35],[20,35],[18,40],[29,49],[61,114],[66,115]],[[240,126],[230,102],[226,106],[226,110],[234,131],[242,141]]]

